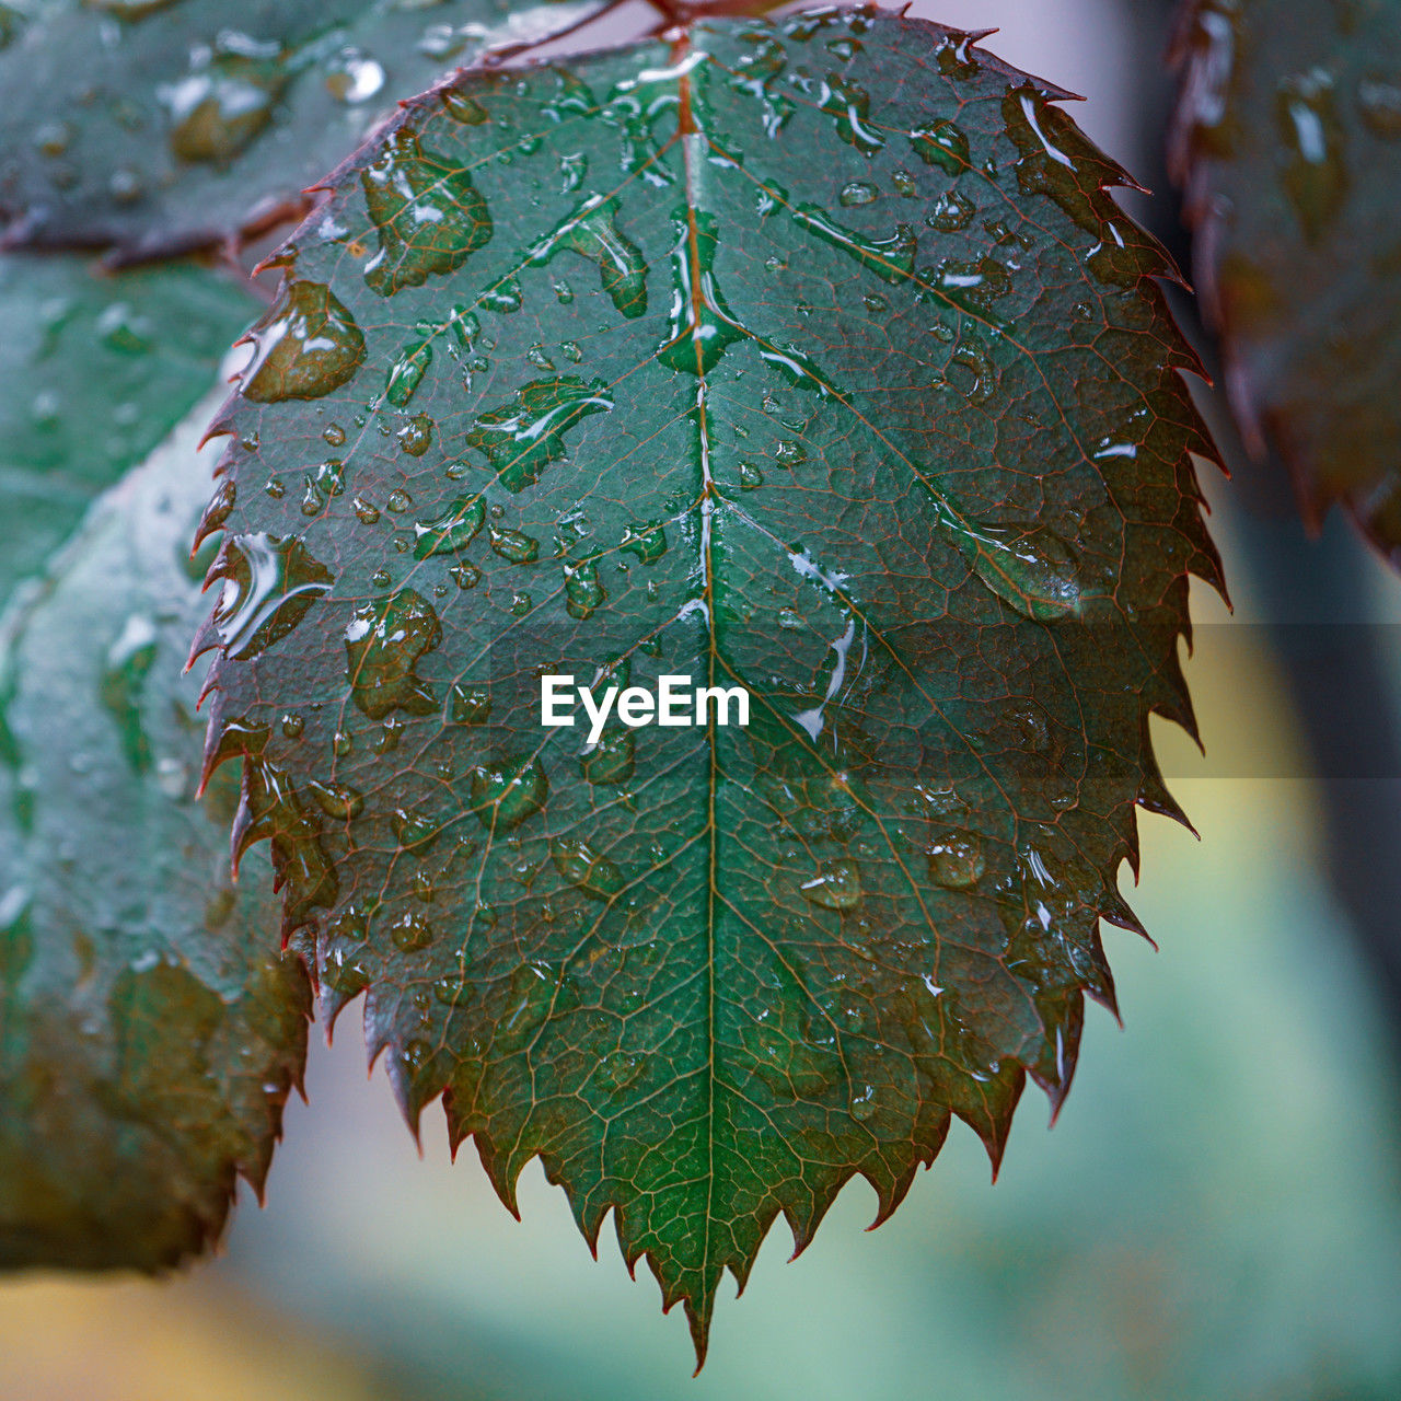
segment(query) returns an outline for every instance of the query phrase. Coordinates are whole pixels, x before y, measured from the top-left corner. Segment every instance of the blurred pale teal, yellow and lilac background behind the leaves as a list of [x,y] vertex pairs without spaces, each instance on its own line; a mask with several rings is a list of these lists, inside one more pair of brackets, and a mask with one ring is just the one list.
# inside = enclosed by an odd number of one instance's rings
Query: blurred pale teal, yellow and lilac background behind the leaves
[[[916,13],[1003,24],[995,52],[1087,92],[1075,115],[1152,170],[1166,85],[1154,69],[1145,97],[1133,76],[1164,29],[1157,7],[1156,29],[1128,10]],[[1124,884],[1161,951],[1107,932],[1125,1027],[1091,1010],[1065,1111],[1048,1131],[1028,1094],[996,1187],[958,1125],[881,1230],[863,1231],[874,1198],[855,1184],[797,1262],[776,1233],[691,1380],[681,1318],[628,1279],[607,1230],[590,1259],[538,1164],[517,1223],[471,1150],[448,1163],[436,1111],[419,1160],[382,1075],[366,1083],[352,1009],[333,1047],[314,1044],[266,1208],[241,1202],[213,1265],[0,1283],[0,1398],[1401,1397],[1397,1040],[1332,894],[1323,789],[1261,626],[1297,619],[1252,563],[1302,531],[1251,520],[1215,474],[1209,488],[1237,604],[1195,597],[1210,759],[1156,723],[1201,842],[1145,817],[1142,884]],[[1401,619],[1401,579],[1342,523],[1321,551],[1355,584],[1328,621]]]

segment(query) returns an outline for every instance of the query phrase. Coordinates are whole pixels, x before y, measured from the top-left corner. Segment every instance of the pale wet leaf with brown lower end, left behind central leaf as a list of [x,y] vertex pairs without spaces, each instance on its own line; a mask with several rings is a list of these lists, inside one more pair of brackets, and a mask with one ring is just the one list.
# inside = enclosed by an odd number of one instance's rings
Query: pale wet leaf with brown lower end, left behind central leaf
[[0,1268],[158,1269],[261,1189],[310,992],[195,800],[196,415],[0,621]]

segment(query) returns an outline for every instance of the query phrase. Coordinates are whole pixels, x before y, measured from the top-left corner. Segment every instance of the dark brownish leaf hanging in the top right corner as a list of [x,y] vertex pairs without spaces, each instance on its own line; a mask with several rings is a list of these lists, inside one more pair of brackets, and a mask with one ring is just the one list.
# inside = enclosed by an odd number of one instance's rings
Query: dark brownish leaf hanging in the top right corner
[[1401,559],[1401,8],[1195,0],[1174,168],[1247,444]]

